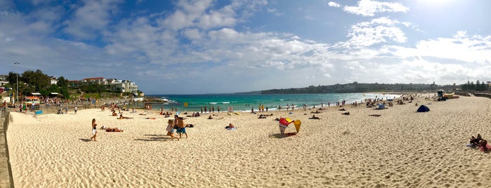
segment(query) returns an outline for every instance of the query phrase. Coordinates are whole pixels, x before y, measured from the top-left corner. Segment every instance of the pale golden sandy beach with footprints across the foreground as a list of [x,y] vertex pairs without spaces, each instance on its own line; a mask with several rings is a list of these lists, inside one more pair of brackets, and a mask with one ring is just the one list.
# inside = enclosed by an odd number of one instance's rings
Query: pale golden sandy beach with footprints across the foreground
[[[431,111],[417,113],[417,106]],[[106,109],[37,117],[11,112],[7,138],[15,187],[489,187],[491,155],[466,147],[491,140],[491,100],[460,97],[376,110],[365,105],[313,110],[186,117],[189,137],[166,136],[158,112]],[[139,115],[146,113],[147,115]],[[212,113],[213,114],[213,113]],[[264,112],[266,114],[266,112]],[[380,114],[381,116],[369,116]],[[302,121],[280,137],[276,117]],[[98,129],[91,120],[119,127]],[[155,118],[155,119],[145,119]],[[228,123],[237,130],[225,130]],[[287,133],[295,132],[293,125]]]

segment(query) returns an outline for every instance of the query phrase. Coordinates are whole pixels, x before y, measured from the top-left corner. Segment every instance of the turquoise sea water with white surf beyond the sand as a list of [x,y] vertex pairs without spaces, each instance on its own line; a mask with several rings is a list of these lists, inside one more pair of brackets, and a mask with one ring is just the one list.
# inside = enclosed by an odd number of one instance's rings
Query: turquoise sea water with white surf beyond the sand
[[[226,112],[228,107],[233,107],[234,112],[251,112],[251,108],[257,111],[259,105],[264,105],[265,109],[277,110],[286,109],[287,105],[295,105],[296,108],[302,108],[305,104],[310,107],[327,107],[336,105],[336,102],[346,101],[346,104],[352,104],[357,101],[371,98],[389,99],[399,95],[387,95],[381,93],[329,93],[329,94],[207,94],[207,95],[148,95],[149,97],[166,98],[169,102],[152,104],[153,109],[170,110],[178,108],[179,111],[199,112],[201,107],[214,107],[215,111],[220,107],[221,112]],[[184,104],[188,103],[188,107]]]

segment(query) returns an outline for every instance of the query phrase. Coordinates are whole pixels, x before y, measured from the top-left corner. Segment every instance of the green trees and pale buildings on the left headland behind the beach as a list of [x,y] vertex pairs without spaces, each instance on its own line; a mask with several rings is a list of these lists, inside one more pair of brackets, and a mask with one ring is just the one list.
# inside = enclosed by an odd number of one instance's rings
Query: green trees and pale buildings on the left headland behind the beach
[[[17,92],[18,91],[18,92]],[[28,96],[41,95],[50,98],[80,100],[81,98],[143,96],[138,85],[127,79],[105,79],[104,77],[67,80],[63,76],[48,76],[40,70],[22,74],[9,72],[0,74],[1,102],[25,101]],[[94,95],[93,93],[96,93]]]

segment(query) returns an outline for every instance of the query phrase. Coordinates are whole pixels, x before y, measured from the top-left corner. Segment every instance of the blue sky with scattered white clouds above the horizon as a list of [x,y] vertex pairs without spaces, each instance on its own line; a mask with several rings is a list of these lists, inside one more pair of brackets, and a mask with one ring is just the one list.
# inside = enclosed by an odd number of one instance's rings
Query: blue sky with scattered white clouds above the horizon
[[491,81],[490,10],[488,0],[0,0],[0,74],[125,79],[146,95]]

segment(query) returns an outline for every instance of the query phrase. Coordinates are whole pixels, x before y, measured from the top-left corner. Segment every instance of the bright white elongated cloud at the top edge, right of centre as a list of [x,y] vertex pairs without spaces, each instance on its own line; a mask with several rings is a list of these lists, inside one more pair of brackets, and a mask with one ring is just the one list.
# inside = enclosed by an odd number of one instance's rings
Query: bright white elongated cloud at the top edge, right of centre
[[372,0],[360,0],[358,6],[345,6],[344,11],[355,15],[374,16],[375,13],[406,13],[409,8],[401,3],[380,2]]

